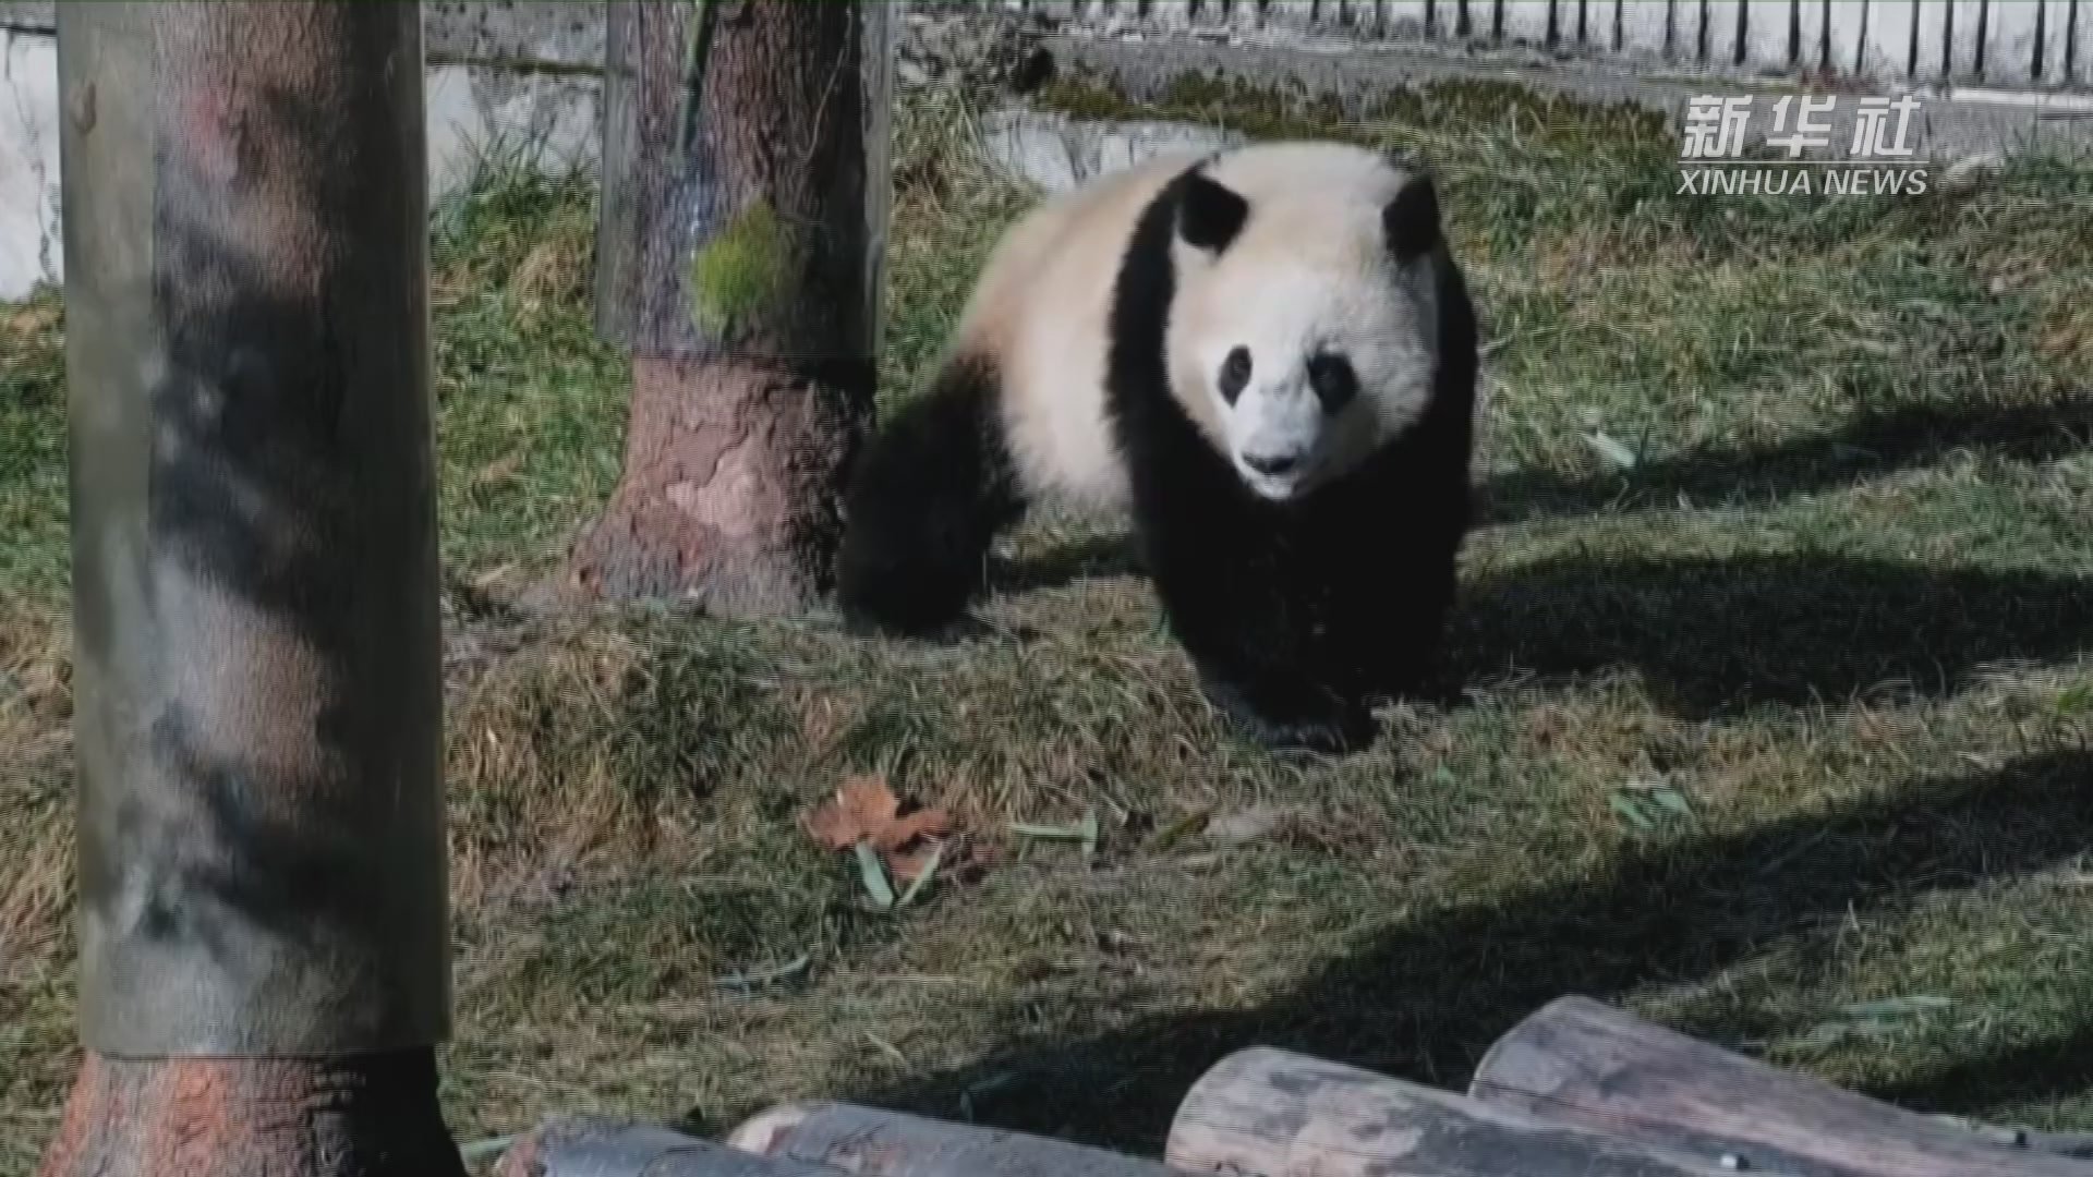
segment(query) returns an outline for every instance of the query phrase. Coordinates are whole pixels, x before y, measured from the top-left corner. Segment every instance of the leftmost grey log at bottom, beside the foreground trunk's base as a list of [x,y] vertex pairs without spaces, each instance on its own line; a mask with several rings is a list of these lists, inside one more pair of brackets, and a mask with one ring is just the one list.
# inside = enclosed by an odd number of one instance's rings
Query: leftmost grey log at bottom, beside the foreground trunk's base
[[841,1177],[835,1169],[753,1156],[655,1127],[550,1120],[494,1167],[494,1177]]

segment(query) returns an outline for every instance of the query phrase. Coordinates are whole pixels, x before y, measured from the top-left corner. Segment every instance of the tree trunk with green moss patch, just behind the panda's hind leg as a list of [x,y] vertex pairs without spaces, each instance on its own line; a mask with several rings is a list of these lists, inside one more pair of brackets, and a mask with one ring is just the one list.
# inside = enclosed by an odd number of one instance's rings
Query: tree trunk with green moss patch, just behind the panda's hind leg
[[885,4],[609,6],[599,308],[632,413],[563,595],[768,616],[829,593],[873,404],[885,29]]

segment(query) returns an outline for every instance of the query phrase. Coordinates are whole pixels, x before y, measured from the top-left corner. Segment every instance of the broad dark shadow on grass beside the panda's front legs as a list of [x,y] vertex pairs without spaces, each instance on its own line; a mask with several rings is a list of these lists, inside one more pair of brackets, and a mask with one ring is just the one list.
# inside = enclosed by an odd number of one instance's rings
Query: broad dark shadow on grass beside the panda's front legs
[[1944,695],[1986,664],[2093,649],[2093,582],[1833,555],[1578,557],[1486,578],[1453,624],[1465,676],[1635,668],[1706,716]]

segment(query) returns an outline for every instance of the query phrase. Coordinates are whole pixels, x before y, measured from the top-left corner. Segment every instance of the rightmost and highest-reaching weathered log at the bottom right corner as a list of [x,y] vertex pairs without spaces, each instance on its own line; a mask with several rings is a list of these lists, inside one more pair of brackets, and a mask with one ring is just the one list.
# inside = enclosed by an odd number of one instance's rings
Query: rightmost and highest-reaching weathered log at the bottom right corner
[[2001,1146],[1584,997],[1513,1026],[1469,1093],[1649,1146],[1731,1154],[1783,1177],[2093,1177],[2089,1162]]

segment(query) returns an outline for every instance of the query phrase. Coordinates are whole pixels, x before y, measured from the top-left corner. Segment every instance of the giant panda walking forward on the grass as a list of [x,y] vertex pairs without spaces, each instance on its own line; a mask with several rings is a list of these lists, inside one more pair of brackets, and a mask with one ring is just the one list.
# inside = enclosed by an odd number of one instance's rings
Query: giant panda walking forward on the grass
[[1476,367],[1411,163],[1291,140],[1090,180],[1005,232],[856,463],[837,603],[933,635],[1028,505],[1120,511],[1206,695],[1266,746],[1356,748],[1436,664]]

